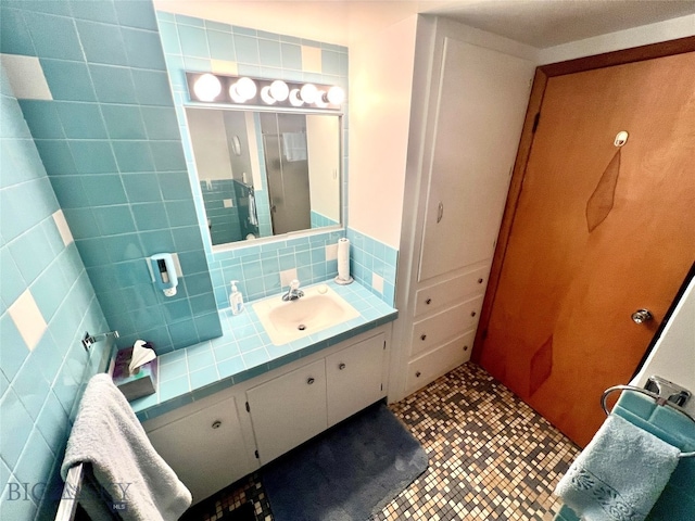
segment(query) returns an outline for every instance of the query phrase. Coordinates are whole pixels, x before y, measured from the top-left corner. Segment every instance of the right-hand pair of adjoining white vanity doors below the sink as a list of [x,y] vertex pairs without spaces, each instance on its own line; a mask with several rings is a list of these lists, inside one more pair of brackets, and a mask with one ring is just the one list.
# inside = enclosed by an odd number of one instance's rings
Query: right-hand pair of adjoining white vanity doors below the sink
[[386,335],[365,333],[247,391],[261,465],[386,396]]

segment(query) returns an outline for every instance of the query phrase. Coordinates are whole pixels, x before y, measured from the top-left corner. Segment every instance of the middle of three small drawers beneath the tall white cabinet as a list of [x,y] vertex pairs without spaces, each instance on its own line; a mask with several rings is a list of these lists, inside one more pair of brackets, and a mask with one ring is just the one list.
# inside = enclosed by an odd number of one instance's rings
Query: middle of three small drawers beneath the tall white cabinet
[[483,295],[476,296],[413,325],[410,356],[426,353],[442,342],[475,328]]

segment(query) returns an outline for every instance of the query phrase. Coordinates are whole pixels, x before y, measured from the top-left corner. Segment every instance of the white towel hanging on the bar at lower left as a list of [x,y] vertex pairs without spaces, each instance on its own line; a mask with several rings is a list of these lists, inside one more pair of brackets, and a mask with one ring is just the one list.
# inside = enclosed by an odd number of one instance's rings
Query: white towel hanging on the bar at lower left
[[80,462],[91,463],[99,484],[123,505],[118,514],[125,521],[176,520],[191,504],[191,493],[154,450],[109,374],[87,384],[67,441],[63,479]]

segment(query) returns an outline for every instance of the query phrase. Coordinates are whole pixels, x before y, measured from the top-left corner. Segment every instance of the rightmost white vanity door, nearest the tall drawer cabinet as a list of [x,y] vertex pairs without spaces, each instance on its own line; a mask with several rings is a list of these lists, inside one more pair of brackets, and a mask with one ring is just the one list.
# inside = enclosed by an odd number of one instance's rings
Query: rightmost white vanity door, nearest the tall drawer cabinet
[[383,396],[384,334],[326,357],[328,425],[333,425]]

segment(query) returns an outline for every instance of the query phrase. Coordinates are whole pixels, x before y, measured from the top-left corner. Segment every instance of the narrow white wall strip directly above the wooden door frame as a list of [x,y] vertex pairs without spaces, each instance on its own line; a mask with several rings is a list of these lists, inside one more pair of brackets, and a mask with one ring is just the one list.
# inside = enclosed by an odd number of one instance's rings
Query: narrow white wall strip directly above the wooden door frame
[[539,53],[539,63],[544,65],[564,62],[693,35],[695,35],[695,14],[542,49]]

